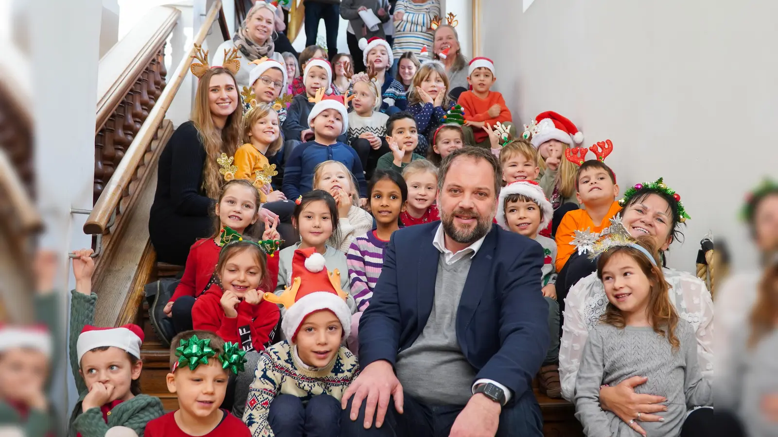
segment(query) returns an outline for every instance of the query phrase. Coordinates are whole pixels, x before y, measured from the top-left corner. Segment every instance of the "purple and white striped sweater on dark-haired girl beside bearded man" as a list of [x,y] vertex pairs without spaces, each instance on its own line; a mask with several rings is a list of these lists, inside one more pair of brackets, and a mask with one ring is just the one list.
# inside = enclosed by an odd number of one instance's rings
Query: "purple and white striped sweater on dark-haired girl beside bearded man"
[[364,311],[367,302],[373,297],[373,288],[384,268],[384,250],[389,244],[388,241],[377,239],[373,230],[356,237],[346,256],[351,295],[356,301],[357,311]]

